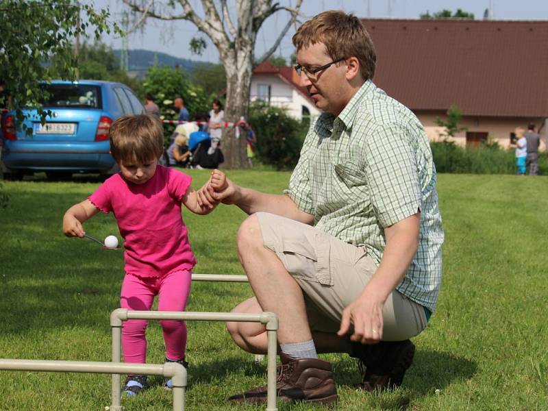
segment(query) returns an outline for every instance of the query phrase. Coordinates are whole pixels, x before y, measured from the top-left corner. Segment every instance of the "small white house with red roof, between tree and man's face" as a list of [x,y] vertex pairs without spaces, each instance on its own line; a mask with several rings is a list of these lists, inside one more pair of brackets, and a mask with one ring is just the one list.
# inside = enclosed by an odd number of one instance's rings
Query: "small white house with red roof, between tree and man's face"
[[251,101],[262,100],[284,108],[295,119],[315,119],[321,114],[308,96],[306,88],[299,87],[299,77],[292,67],[276,67],[265,60],[253,70]]

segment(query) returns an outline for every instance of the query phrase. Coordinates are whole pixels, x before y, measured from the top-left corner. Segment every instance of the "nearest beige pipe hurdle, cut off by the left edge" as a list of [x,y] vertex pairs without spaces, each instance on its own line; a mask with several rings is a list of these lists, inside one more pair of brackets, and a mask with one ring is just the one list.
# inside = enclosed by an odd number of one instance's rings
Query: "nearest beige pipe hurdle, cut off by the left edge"
[[[3,360],[0,370],[47,371],[53,373],[98,373],[98,374],[145,374],[163,375],[173,381],[173,411],[184,410],[186,369],[177,362],[165,364],[132,364],[127,362],[53,361],[53,360]],[[111,407],[110,410],[113,408]],[[123,410],[119,406],[117,410]]]

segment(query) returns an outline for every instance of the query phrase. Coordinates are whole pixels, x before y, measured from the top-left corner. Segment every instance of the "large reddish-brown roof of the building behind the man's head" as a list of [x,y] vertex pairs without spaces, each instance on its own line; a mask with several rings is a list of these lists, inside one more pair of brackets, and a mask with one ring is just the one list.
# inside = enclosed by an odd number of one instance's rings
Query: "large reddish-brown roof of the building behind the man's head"
[[363,19],[373,81],[412,110],[548,116],[548,21]]

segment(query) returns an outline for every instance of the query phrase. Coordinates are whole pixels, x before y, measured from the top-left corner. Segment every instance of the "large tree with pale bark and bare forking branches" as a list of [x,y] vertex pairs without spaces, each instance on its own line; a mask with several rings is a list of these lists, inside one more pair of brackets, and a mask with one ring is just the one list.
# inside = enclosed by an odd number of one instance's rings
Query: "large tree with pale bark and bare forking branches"
[[[219,3],[213,0],[201,0],[203,18],[198,16],[188,0],[170,1],[165,8],[156,4],[155,0],[123,0],[123,2],[135,12],[142,14],[138,23],[129,32],[132,32],[149,16],[166,21],[177,19],[192,21],[201,32],[211,38],[219,50],[227,74],[225,121],[237,123],[240,117],[247,118],[249,114],[249,88],[253,64],[260,64],[275,51],[290,25],[295,23],[303,0],[297,0],[294,8],[282,7],[279,3],[273,3],[272,0],[237,0],[235,1],[237,25],[234,25],[232,21],[227,0],[219,0]],[[181,14],[164,12],[165,9],[174,7],[175,3],[179,3],[182,7]],[[257,62],[253,62],[257,33],[264,20],[279,10],[290,12],[291,18],[278,34],[272,47],[265,51]],[[248,166],[245,135],[242,134],[236,138],[234,130],[234,127],[223,130],[222,147],[225,166],[230,169],[245,168]]]

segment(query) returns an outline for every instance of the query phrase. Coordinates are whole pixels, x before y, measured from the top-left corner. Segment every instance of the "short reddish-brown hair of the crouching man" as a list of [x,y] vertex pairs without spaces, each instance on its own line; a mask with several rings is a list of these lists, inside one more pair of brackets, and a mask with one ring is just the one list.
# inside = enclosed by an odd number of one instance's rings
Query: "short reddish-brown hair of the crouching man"
[[292,40],[297,51],[318,42],[323,43],[334,62],[350,57],[358,58],[364,80],[372,79],[375,74],[375,47],[362,22],[353,14],[340,10],[317,14],[299,27]]

